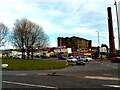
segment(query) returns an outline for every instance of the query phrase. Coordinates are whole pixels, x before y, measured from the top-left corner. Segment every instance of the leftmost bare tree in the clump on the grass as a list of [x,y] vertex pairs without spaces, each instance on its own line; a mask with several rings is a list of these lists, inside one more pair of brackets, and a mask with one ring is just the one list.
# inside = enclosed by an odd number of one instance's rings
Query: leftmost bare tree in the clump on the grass
[[25,59],[25,31],[26,19],[16,20],[13,27],[12,42],[15,47],[22,51],[22,59]]

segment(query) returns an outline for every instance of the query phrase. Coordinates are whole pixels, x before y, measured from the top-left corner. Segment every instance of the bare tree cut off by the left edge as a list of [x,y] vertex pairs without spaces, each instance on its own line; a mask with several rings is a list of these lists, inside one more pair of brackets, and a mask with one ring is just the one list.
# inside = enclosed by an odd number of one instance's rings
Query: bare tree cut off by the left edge
[[0,47],[3,46],[6,42],[5,38],[8,33],[8,27],[3,23],[0,23]]

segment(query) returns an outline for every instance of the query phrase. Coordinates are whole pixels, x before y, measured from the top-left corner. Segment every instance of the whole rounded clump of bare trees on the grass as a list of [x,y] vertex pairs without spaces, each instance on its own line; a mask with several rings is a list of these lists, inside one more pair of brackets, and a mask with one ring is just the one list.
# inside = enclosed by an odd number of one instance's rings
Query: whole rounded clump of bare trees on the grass
[[46,47],[49,43],[49,37],[44,33],[43,28],[27,19],[16,20],[12,36],[15,46],[22,51],[22,58],[26,50],[27,59],[30,52],[33,56],[34,49]]

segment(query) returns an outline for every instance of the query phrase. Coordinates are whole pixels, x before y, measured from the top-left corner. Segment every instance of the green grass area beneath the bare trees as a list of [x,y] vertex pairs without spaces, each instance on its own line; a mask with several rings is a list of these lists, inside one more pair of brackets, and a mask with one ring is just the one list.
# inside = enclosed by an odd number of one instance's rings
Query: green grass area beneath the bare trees
[[24,60],[3,58],[2,64],[8,64],[7,70],[48,70],[67,67],[66,62],[53,60]]

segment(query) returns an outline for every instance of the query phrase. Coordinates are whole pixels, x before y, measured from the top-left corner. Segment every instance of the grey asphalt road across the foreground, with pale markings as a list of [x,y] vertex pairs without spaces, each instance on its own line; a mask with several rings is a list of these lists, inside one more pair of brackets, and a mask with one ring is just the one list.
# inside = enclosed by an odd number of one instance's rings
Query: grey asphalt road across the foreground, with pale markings
[[119,64],[86,62],[59,70],[3,71],[4,88],[120,88]]

